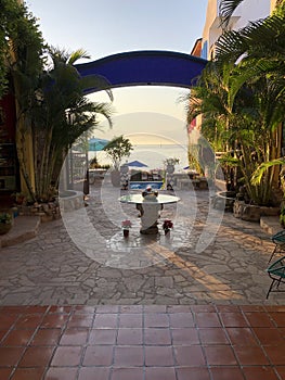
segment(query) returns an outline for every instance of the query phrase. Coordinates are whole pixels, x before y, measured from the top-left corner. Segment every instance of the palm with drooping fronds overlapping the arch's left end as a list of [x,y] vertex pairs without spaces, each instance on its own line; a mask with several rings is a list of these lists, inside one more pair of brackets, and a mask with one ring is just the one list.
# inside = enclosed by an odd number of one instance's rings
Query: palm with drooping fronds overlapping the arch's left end
[[98,87],[102,79],[94,76],[82,79],[74,67],[77,60],[88,58],[87,53],[77,50],[68,54],[54,48],[49,53],[52,63],[40,77],[41,101],[35,99],[30,107],[36,195],[41,201],[49,199],[52,183],[57,186],[72,144],[99,124],[98,115],[105,116],[112,126],[109,105],[91,102],[83,96],[85,88]]

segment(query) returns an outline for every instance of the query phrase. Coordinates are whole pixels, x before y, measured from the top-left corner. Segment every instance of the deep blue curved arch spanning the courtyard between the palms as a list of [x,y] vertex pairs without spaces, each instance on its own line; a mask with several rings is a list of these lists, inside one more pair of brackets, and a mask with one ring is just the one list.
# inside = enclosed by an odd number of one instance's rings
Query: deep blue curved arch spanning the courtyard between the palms
[[[130,51],[75,65],[81,77],[103,77],[109,86],[172,86],[191,88],[208,61],[180,52],[161,50]],[[92,93],[102,88],[87,88]]]

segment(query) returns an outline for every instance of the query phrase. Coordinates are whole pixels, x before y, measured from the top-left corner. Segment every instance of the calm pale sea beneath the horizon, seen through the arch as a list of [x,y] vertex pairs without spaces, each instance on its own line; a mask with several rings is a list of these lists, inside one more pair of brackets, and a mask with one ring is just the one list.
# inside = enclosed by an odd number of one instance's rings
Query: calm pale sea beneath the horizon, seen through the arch
[[[111,164],[111,160],[107,157],[104,151],[89,152],[88,156],[91,160],[96,156],[101,165]],[[122,160],[122,164],[126,162],[140,161],[147,165],[147,168],[164,168],[165,161],[167,159],[179,159],[179,164],[176,165],[176,170],[183,170],[183,167],[189,165],[187,162],[187,145],[181,144],[138,144],[133,145],[131,155]],[[146,169],[147,169],[146,168]]]

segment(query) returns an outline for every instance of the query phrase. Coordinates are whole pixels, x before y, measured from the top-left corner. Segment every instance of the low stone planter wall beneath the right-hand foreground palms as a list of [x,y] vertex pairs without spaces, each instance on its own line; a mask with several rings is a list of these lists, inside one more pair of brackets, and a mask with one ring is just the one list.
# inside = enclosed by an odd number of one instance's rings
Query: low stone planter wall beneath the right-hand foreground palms
[[276,216],[280,213],[280,207],[258,206],[247,204],[244,201],[234,202],[234,216],[247,221],[260,221],[261,216]]

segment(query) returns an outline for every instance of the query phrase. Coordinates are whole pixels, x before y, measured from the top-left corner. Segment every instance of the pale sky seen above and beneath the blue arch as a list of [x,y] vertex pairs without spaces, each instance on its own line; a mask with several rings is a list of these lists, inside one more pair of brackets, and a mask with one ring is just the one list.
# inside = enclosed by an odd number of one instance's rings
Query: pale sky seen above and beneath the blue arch
[[[86,50],[91,62],[119,52],[168,50],[191,53],[202,37],[208,0],[26,0],[38,18],[44,40],[54,47]],[[113,89],[113,129],[103,121],[94,136],[140,135],[140,143],[153,135],[186,142],[187,90],[138,86]],[[104,92],[90,96],[108,101]],[[144,139],[142,139],[142,135]]]

